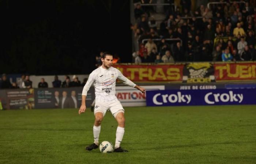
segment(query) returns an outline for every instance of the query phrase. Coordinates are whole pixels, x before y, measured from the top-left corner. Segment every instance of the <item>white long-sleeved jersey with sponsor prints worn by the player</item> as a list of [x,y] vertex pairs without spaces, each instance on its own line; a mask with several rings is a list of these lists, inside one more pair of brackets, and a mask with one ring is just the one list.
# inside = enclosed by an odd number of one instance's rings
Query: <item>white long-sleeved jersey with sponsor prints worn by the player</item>
[[135,83],[126,78],[118,69],[110,67],[104,69],[102,66],[95,69],[83,87],[82,95],[87,95],[87,91],[93,84],[95,88],[95,99],[100,101],[112,101],[116,97],[116,79],[120,79],[126,85],[135,87]]

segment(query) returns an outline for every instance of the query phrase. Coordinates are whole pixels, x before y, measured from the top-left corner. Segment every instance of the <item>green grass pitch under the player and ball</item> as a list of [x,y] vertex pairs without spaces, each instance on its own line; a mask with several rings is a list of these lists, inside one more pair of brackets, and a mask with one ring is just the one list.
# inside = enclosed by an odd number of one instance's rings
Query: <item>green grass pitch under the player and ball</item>
[[[122,147],[85,151],[94,116],[76,109],[0,111],[0,163],[256,163],[256,106],[126,108]],[[108,112],[100,141],[115,141]]]

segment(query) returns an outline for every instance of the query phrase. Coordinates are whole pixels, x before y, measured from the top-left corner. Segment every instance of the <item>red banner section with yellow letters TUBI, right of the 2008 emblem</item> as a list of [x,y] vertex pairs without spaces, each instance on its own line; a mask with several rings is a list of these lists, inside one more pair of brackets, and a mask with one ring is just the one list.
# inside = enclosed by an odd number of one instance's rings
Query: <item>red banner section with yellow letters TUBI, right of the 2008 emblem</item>
[[216,81],[256,80],[256,63],[214,64]]

